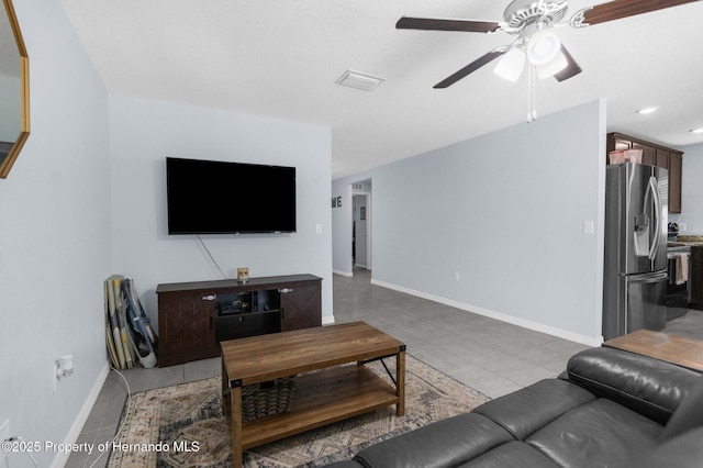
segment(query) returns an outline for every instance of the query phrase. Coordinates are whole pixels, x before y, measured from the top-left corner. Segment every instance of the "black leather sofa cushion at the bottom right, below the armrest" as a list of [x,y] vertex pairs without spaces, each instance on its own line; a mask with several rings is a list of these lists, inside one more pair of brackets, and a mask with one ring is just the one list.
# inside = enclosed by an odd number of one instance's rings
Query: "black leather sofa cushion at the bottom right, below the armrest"
[[611,400],[569,411],[526,442],[561,467],[626,466],[656,445],[662,426]]

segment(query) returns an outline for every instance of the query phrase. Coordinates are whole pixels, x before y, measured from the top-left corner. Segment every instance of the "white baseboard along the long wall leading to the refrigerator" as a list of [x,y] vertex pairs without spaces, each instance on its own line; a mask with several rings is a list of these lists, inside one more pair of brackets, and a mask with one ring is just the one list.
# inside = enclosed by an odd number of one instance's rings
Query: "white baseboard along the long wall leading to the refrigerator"
[[601,346],[603,344],[602,336],[594,338],[592,336],[581,335],[579,333],[569,332],[567,330],[557,328],[555,326],[545,325],[543,323],[533,322],[525,319],[520,319],[520,317],[507,315],[501,312],[494,312],[488,309],[479,308],[477,305],[466,304],[464,302],[454,301],[451,299],[446,299],[439,296],[428,294],[426,292],[416,291],[414,289],[405,288],[405,287],[393,285],[390,282],[379,281],[377,279],[371,279],[371,285],[380,286],[382,288],[388,288],[394,291],[404,292],[406,294],[427,299],[428,301],[438,302],[440,304],[449,305],[456,309],[477,313],[479,315],[484,315],[491,319],[500,320],[501,322],[511,323],[513,325],[522,326],[523,328],[534,330],[535,332],[546,333],[548,335],[553,335],[558,338],[568,339],[570,342],[580,343],[582,345]]

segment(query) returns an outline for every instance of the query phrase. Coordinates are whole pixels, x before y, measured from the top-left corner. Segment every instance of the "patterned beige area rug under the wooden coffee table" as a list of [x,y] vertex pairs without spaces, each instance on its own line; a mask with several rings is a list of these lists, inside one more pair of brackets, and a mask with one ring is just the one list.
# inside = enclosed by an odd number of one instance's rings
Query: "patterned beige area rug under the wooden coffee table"
[[[392,361],[393,359],[389,359]],[[394,363],[389,368],[394,370]],[[380,363],[367,365],[388,379]],[[132,395],[124,428],[108,466],[194,468],[232,466],[219,377]],[[406,356],[405,415],[388,406],[244,453],[245,467],[321,467],[349,459],[366,446],[443,420],[489,398]]]

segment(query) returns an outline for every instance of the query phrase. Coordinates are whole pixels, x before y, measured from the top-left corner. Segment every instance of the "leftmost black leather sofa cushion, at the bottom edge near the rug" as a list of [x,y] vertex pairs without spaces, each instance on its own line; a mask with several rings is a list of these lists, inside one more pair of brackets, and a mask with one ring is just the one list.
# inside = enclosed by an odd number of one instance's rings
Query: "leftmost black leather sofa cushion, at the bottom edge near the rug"
[[456,467],[509,441],[494,422],[464,413],[365,448],[354,460],[366,468]]

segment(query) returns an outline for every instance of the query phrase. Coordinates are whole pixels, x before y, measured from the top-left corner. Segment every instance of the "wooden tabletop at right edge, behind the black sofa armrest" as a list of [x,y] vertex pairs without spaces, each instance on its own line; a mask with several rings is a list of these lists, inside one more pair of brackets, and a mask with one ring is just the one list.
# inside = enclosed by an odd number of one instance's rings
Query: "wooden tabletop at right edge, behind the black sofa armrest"
[[703,372],[703,342],[650,330],[638,330],[603,343],[603,346],[641,354]]

